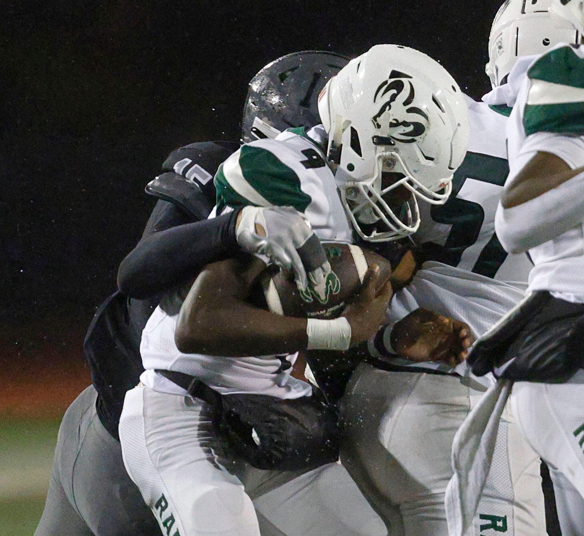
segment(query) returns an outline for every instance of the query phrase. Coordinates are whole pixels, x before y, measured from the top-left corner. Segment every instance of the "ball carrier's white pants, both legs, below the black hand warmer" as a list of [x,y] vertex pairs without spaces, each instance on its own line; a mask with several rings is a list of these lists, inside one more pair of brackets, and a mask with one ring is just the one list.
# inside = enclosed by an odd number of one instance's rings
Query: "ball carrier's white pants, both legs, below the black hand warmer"
[[128,474],[167,536],[387,534],[339,464],[262,471],[224,458],[199,399],[140,385],[126,394],[119,431]]

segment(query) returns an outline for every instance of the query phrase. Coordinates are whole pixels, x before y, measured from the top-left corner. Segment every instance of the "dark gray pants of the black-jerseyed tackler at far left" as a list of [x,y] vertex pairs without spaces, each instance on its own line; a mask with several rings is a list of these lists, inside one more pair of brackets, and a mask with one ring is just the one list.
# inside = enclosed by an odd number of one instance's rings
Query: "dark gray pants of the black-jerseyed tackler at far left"
[[59,427],[53,472],[35,536],[159,536],[158,523],[103,427],[90,386]]

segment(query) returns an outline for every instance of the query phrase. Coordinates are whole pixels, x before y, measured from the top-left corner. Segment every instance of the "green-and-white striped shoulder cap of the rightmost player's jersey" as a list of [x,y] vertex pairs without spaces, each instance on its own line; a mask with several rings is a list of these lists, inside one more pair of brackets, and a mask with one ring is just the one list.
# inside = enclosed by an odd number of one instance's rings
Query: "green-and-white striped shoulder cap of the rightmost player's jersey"
[[527,76],[526,135],[584,134],[584,49],[569,45],[554,48],[531,65]]

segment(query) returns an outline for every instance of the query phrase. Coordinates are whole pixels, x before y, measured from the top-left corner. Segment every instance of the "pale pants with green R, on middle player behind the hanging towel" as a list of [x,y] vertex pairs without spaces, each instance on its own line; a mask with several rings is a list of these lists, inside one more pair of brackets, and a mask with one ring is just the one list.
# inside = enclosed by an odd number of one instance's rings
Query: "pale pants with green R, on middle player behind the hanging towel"
[[[396,507],[405,536],[448,536],[444,492],[451,445],[482,396],[451,375],[360,364],[343,399],[341,461],[384,520]],[[545,536],[540,459],[508,409],[477,516],[466,536]]]

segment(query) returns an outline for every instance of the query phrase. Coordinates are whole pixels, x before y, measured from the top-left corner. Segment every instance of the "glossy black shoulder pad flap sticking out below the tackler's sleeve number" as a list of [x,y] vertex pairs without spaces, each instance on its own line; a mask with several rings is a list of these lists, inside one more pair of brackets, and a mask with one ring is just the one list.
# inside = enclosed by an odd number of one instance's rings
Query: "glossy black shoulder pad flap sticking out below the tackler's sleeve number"
[[206,220],[214,206],[199,185],[173,171],[162,173],[151,180],[146,186],[146,193],[175,204],[197,221]]

